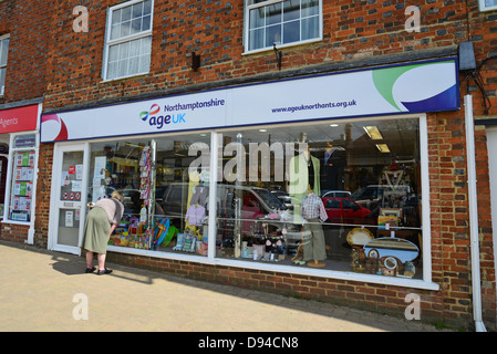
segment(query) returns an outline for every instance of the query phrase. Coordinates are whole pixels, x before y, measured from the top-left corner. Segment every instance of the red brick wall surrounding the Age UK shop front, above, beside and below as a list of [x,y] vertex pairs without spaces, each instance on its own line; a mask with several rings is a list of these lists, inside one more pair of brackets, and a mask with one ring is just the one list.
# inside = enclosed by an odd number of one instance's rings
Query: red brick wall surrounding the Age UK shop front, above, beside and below
[[[323,40],[282,49],[282,71],[278,72],[272,50],[242,55],[242,1],[156,1],[154,9],[153,55],[151,73],[114,82],[102,82],[102,61],[106,8],[121,1],[52,1],[51,34],[48,41],[48,84],[45,110],[126,100],[143,94],[167,94],[168,90],[188,90],[199,84],[222,85],[229,79],[258,80],[263,74],[284,77],[290,70],[314,67],[320,72],[330,63],[354,67],[375,63],[379,58],[408,60],[406,55],[457,49],[473,40],[479,62],[497,53],[497,12],[479,13],[477,1],[323,1]],[[89,8],[90,31],[72,31],[72,8]],[[407,6],[421,10],[421,32],[408,33],[404,24]],[[1,6],[1,4],[0,4]],[[469,22],[467,22],[469,19]],[[1,22],[0,22],[1,23]],[[1,28],[0,28],[1,29]],[[190,69],[190,53],[201,55],[198,72]],[[401,56],[402,55],[402,56]],[[482,69],[485,90],[496,114],[497,61]],[[327,70],[327,69],[324,69]],[[462,94],[466,93],[460,76]],[[475,114],[483,114],[483,96],[469,80]],[[428,115],[429,207],[432,218],[433,281],[441,291],[418,291],[396,287],[325,280],[303,275],[189,262],[166,261],[111,253],[120,262],[148,267],[178,275],[194,277],[240,287],[289,293],[332,301],[376,311],[398,313],[405,309],[406,293],[422,296],[424,319],[470,324],[472,274],[468,228],[467,167],[464,125],[460,112]],[[476,132],[479,195],[479,231],[484,317],[495,326],[496,294],[491,225],[488,210],[488,166],[485,132]],[[37,197],[37,237],[46,239],[50,199],[50,171],[53,145],[40,153]],[[45,188],[41,191],[42,188]],[[427,247],[427,246],[425,246]],[[403,312],[402,312],[403,313]],[[401,313],[401,315],[402,315]]]

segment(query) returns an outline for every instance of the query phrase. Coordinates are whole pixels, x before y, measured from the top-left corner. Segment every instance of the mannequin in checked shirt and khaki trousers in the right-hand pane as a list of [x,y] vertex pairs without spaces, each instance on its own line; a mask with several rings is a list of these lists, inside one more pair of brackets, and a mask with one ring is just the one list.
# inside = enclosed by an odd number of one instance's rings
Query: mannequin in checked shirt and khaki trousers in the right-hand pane
[[308,195],[302,199],[300,210],[303,229],[311,231],[310,239],[303,240],[303,260],[309,267],[322,268],[325,266],[327,251],[321,222],[327,220],[328,215],[321,198],[314,194],[313,186],[313,179],[311,179],[308,184]]

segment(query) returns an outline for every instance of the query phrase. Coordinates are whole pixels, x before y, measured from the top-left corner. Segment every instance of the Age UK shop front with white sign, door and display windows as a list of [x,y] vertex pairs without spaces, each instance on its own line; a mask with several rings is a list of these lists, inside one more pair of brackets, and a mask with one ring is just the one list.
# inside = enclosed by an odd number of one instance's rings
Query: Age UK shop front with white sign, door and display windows
[[120,189],[112,252],[438,290],[426,113],[459,110],[457,77],[451,58],[42,114],[49,248],[80,253]]

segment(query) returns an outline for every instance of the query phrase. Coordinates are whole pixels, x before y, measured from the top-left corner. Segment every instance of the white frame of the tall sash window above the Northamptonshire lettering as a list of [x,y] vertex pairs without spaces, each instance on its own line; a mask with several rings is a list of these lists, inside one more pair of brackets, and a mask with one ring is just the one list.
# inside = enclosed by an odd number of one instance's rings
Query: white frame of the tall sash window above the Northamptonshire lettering
[[[116,10],[133,6],[135,3],[144,2],[144,1],[145,0],[131,0],[131,1],[126,1],[124,3],[120,3],[117,6],[111,7],[107,10],[107,22],[105,25],[104,62],[103,62],[103,70],[102,70],[102,79],[104,82],[143,75],[143,74],[149,73],[149,71],[151,71],[148,67],[148,70],[144,71],[144,72],[137,72],[137,73],[133,73],[133,74],[125,75],[125,76],[116,76],[116,77],[107,79],[108,55],[110,55],[111,46],[120,44],[120,43],[125,43],[125,42],[130,42],[133,40],[142,39],[142,38],[146,38],[146,37],[152,38],[152,29],[154,27],[154,0],[152,0],[151,28],[147,31],[143,31],[143,32],[138,32],[138,33],[134,33],[134,34],[130,34],[130,35],[126,35],[123,38],[112,40],[111,39],[112,15],[113,15],[114,11],[116,11]],[[151,51],[151,59],[152,59],[152,51]]]

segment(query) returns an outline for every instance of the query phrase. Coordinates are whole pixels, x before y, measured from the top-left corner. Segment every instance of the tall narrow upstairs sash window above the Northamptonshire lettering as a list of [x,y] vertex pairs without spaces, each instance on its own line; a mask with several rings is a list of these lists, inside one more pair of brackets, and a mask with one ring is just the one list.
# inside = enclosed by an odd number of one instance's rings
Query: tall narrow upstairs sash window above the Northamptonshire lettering
[[104,80],[148,73],[153,0],[128,1],[110,9]]

